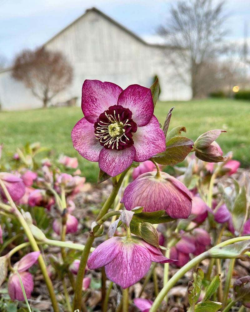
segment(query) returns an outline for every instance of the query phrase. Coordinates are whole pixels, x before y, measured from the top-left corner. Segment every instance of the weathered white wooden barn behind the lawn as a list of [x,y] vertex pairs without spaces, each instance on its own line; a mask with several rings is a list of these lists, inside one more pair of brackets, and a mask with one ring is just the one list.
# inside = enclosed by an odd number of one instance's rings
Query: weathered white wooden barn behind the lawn
[[[150,44],[115,22],[96,8],[86,10],[77,20],[47,41],[43,47],[60,51],[72,64],[73,83],[53,98],[51,105],[77,97],[85,79],[111,81],[122,88],[137,83],[149,87],[158,76],[161,100],[189,100],[191,89],[178,79],[169,55],[173,47]],[[185,66],[179,71],[185,74]],[[38,108],[42,101],[34,97],[22,82],[11,77],[11,68],[0,71],[2,110]]]

